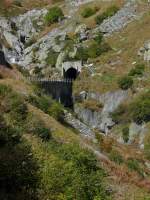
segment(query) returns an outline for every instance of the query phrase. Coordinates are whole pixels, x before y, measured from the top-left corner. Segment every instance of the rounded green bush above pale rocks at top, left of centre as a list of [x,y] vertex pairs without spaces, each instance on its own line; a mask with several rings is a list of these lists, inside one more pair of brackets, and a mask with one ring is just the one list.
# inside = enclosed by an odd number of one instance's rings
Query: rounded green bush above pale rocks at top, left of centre
[[45,16],[45,21],[47,24],[53,24],[59,21],[64,17],[63,11],[61,8],[55,6],[50,8],[47,15]]

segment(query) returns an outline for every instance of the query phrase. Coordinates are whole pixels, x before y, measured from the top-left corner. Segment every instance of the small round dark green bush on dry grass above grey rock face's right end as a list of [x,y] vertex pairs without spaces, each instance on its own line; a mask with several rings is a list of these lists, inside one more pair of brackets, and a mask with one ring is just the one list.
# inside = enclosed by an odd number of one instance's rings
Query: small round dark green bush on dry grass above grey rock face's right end
[[118,85],[122,90],[127,90],[133,86],[133,79],[129,76],[124,76],[118,81]]

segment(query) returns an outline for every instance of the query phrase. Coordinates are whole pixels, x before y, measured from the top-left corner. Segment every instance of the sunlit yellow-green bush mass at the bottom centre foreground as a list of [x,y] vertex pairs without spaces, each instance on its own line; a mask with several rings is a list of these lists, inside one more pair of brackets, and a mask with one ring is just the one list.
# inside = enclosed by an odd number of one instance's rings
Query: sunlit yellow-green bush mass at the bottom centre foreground
[[45,192],[51,199],[110,199],[104,189],[105,173],[91,152],[75,144],[56,142],[47,148],[56,156],[43,169],[47,172],[43,180]]

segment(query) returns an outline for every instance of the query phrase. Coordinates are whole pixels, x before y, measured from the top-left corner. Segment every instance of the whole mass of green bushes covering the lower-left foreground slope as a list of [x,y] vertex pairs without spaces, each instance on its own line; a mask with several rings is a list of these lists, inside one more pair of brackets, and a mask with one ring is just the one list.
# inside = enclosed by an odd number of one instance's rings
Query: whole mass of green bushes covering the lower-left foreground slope
[[[24,98],[0,85],[1,199],[110,199],[106,174],[93,153],[55,140],[40,116],[28,111],[27,102],[57,118],[58,105],[47,96]],[[27,133],[39,138],[45,154],[51,155],[48,160],[34,158]]]

